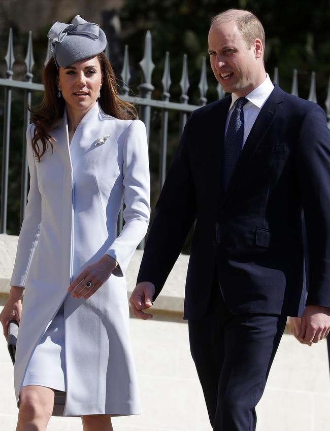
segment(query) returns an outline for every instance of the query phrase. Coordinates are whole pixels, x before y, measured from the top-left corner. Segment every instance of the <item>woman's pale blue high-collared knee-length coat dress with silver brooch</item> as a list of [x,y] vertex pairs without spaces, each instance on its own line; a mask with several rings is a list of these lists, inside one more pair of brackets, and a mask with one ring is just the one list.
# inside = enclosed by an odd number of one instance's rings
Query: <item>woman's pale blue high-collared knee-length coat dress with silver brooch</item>
[[[140,413],[129,338],[125,271],[146,234],[147,137],[140,120],[118,120],[96,103],[69,145],[64,113],[38,162],[27,129],[30,190],[11,284],[24,286],[14,381],[66,391],[63,415]],[[100,139],[103,138],[103,139]],[[117,236],[124,201],[125,225]],[[71,281],[104,254],[118,262],[89,299]]]

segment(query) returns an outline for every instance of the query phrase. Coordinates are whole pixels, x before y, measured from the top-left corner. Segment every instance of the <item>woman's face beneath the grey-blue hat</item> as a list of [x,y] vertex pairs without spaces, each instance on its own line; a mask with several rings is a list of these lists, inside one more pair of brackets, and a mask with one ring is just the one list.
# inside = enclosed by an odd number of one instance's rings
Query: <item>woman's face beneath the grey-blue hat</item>
[[58,89],[72,113],[86,114],[95,104],[102,86],[102,71],[97,56],[85,58],[58,70]]

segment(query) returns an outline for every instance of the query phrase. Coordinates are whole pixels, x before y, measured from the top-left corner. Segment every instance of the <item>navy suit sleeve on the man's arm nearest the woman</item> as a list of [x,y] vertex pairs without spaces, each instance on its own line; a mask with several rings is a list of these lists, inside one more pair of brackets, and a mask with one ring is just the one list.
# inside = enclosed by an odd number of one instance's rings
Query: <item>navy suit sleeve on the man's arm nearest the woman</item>
[[154,299],[159,295],[173,265],[178,259],[187,235],[196,219],[196,190],[191,164],[195,160],[190,122],[187,121],[177,152],[168,171],[158,202],[138,274],[137,282],[155,285]]

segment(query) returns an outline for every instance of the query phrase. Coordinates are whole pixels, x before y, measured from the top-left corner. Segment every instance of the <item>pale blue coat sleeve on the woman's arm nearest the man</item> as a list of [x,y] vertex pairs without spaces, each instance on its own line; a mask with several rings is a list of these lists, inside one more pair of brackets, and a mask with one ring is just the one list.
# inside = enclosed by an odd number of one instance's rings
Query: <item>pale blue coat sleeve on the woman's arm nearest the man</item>
[[128,127],[123,148],[125,225],[106,252],[118,266],[113,274],[123,276],[137,246],[144,238],[150,217],[150,177],[146,128],[135,120]]

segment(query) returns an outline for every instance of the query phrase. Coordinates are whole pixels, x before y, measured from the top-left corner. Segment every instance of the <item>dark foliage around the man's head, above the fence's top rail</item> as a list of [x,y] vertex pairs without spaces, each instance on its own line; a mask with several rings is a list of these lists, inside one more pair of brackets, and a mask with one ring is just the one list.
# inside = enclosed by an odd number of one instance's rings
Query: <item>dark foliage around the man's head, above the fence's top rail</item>
[[[310,73],[316,71],[317,95],[322,105],[326,97],[326,86],[330,73],[329,22],[330,2],[283,1],[283,0],[145,0],[126,2],[121,22],[124,43],[129,45],[131,64],[141,60],[141,41],[147,29],[151,31],[153,61],[156,69],[153,83],[161,88],[160,80],[164,54],[170,51],[173,85],[171,95],[180,94],[178,83],[181,77],[182,54],[188,55],[190,102],[198,103],[197,85],[200,80],[201,59],[207,56],[207,33],[212,16],[229,8],[244,8],[260,19],[266,30],[266,67],[273,76],[279,67],[280,86],[291,90],[292,70],[299,71],[299,90],[302,97],[309,93]],[[134,81],[138,82],[137,73]],[[208,98],[216,99],[215,80],[208,68],[210,90]],[[159,95],[155,91],[154,97]]]

